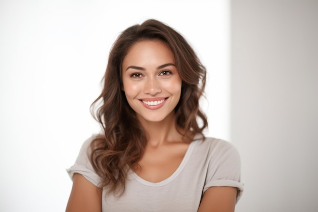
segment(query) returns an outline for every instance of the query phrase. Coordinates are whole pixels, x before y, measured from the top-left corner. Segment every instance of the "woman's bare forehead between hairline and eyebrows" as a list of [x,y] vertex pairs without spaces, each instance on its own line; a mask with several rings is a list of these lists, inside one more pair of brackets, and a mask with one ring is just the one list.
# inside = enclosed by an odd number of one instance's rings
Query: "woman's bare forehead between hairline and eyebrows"
[[135,43],[123,58],[122,66],[161,65],[160,63],[173,63],[174,55],[171,49],[162,41],[144,40]]

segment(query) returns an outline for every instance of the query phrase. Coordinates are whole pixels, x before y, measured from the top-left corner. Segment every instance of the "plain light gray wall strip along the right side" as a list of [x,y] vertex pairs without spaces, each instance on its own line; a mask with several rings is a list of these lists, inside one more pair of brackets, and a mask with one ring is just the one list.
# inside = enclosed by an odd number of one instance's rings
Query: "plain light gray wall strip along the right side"
[[236,211],[317,211],[318,1],[231,4]]

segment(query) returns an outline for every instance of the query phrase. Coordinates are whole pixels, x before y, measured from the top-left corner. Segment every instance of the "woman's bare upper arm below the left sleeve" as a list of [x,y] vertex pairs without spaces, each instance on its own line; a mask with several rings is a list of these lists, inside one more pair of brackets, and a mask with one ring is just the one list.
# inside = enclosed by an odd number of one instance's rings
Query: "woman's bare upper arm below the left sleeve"
[[75,173],[66,212],[102,212],[102,189]]

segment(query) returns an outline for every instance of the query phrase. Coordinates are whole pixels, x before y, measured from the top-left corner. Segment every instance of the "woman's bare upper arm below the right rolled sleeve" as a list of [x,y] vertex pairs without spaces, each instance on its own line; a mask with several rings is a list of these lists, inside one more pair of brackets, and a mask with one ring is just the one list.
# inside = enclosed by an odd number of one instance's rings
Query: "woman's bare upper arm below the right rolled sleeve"
[[205,191],[198,212],[233,212],[237,188],[210,187]]

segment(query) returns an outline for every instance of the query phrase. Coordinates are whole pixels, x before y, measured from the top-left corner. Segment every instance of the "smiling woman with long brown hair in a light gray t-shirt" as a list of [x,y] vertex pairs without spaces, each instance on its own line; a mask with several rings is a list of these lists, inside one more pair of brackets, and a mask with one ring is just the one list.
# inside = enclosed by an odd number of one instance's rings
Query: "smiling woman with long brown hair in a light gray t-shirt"
[[239,155],[202,133],[205,77],[193,49],[164,23],[123,31],[92,104],[100,103],[95,117],[103,130],[68,170],[66,210],[234,211],[243,189]]

